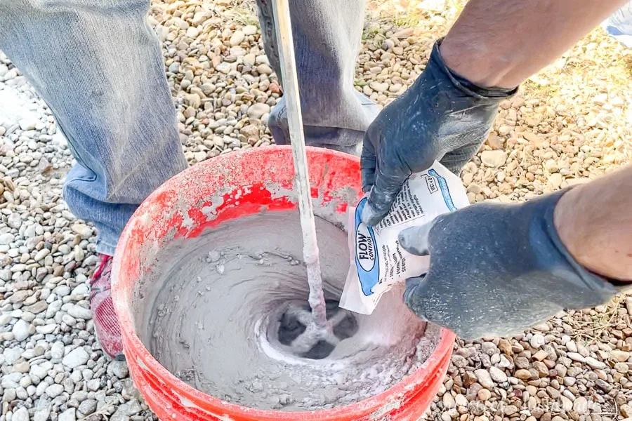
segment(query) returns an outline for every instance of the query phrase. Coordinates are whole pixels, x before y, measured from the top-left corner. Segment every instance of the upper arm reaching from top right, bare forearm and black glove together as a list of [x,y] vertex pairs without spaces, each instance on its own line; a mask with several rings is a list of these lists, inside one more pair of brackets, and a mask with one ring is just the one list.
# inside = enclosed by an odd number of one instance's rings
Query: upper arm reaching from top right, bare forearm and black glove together
[[375,225],[411,173],[433,161],[459,173],[497,105],[626,0],[470,0],[419,79],[364,137],[362,220]]

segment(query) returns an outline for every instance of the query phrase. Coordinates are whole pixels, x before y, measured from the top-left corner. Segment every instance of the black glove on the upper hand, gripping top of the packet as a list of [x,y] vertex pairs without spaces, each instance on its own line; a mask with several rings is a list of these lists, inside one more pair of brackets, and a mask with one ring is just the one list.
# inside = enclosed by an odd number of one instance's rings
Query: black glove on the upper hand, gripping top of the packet
[[485,141],[499,102],[515,92],[480,88],[451,72],[440,42],[415,83],[378,114],[364,135],[362,189],[371,191],[362,213],[367,225],[388,213],[409,175],[435,160],[458,174]]

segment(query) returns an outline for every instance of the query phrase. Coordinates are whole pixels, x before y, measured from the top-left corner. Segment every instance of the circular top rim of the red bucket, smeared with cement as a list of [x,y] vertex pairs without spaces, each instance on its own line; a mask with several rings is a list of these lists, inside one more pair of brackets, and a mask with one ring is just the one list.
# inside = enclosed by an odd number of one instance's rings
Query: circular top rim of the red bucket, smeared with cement
[[[306,147],[306,151],[308,158],[309,156],[326,156],[328,159],[355,161],[356,164],[359,164],[360,162],[360,159],[357,156],[334,151],[332,149]],[[145,199],[143,203],[149,203],[163,192],[178,188],[178,180],[182,178],[182,175],[185,172],[202,171],[204,166],[222,165],[222,161],[235,161],[236,159],[244,158],[244,156],[247,158],[250,155],[289,154],[289,159],[291,160],[291,153],[290,145],[270,145],[268,147],[240,149],[239,151],[231,152],[230,154],[216,156],[213,159],[202,161],[202,163],[198,163],[195,166],[191,166],[181,173],[174,175],[147,196],[147,199]],[[253,157],[253,159],[256,158]],[[358,173],[358,175],[360,175],[360,173]],[[143,204],[139,206],[139,209],[141,207],[143,207]],[[154,356],[152,356],[136,334],[136,327],[131,319],[131,314],[126,309],[126,305],[129,301],[126,297],[124,287],[119,284],[119,276],[117,275],[121,273],[121,267],[123,266],[122,262],[126,260],[126,253],[124,252],[126,245],[133,241],[133,228],[141,222],[141,218],[135,218],[138,217],[137,213],[138,210],[132,215],[124,228],[112,262],[112,298],[114,301],[114,308],[117,312],[117,318],[121,325],[121,335],[124,339],[124,352],[129,364],[140,366],[140,368],[154,373],[159,382],[163,383],[165,387],[172,389],[173,399],[180,399],[180,404],[183,406],[195,408],[203,413],[208,413],[211,416],[217,417],[219,420],[232,420],[233,416],[256,416],[256,419],[262,421],[289,421],[301,419],[301,417],[304,417],[306,414],[310,415],[310,420],[336,420],[338,417],[353,415],[353,413],[360,410],[362,410],[363,413],[366,413],[367,410],[371,412],[377,411],[390,402],[396,403],[397,401],[401,401],[400,398],[410,389],[418,387],[423,388],[426,380],[431,380],[431,378],[440,371],[442,366],[441,361],[442,359],[445,359],[446,354],[452,352],[456,335],[451,330],[441,328],[437,346],[428,359],[424,361],[421,367],[419,367],[414,373],[407,375],[400,382],[380,394],[370,396],[367,399],[362,399],[361,401],[354,403],[336,406],[336,408],[303,411],[258,409],[223,401],[210,394],[206,394],[198,389],[195,389],[195,387],[187,385],[187,383],[180,380],[176,377],[176,375],[173,375],[169,370],[162,366],[157,359],[154,359]],[[438,381],[441,382],[442,380]]]

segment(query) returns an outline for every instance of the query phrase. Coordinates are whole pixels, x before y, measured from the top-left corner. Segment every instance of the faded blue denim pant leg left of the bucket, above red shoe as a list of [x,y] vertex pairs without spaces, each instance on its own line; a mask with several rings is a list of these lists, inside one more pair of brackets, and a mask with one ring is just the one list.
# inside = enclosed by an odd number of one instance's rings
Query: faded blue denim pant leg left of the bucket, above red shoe
[[149,0],[0,0],[0,49],[51,108],[77,165],[64,197],[112,255],[138,204],[187,167]]

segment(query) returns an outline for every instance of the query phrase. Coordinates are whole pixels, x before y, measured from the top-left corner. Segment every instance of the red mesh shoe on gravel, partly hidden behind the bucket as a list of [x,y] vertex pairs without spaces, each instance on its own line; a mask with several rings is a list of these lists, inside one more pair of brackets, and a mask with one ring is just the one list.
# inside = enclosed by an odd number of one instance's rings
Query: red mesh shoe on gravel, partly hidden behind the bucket
[[121,326],[112,303],[112,256],[100,255],[101,264],[90,281],[90,309],[94,330],[103,352],[112,359],[123,361]]

